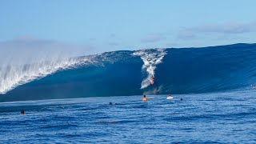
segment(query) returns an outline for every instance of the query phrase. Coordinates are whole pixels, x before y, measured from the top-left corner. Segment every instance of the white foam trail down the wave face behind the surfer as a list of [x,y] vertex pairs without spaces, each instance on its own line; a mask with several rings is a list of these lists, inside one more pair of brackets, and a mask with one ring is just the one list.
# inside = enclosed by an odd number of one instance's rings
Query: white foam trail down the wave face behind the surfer
[[142,70],[146,71],[147,77],[142,80],[141,89],[150,86],[150,78],[154,78],[154,70],[156,66],[162,62],[162,58],[166,55],[165,49],[157,49],[155,52],[151,50],[138,50],[133,55],[140,56],[144,62]]

